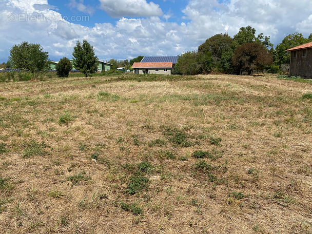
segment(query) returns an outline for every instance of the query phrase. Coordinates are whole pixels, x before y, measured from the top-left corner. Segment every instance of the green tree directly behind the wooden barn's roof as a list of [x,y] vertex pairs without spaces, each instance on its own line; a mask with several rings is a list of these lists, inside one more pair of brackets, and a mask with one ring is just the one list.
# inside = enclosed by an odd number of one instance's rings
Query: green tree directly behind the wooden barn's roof
[[274,64],[279,66],[281,64],[289,64],[290,53],[286,52],[286,50],[296,46],[300,46],[310,41],[312,41],[312,33],[308,38],[305,38],[301,33],[298,32],[285,36],[283,41],[280,44],[278,44],[275,48]]

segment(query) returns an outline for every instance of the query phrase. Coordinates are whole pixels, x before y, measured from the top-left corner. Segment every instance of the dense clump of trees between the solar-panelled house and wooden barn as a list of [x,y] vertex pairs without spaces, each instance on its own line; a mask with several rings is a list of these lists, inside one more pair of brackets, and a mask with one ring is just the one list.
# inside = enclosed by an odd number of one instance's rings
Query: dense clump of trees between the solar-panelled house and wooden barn
[[253,71],[278,73],[285,72],[290,55],[285,50],[312,41],[301,33],[293,33],[273,48],[270,37],[260,33],[251,26],[242,27],[233,37],[227,33],[216,34],[198,47],[179,56],[174,67],[176,74],[200,74],[212,71],[236,74],[251,74]]

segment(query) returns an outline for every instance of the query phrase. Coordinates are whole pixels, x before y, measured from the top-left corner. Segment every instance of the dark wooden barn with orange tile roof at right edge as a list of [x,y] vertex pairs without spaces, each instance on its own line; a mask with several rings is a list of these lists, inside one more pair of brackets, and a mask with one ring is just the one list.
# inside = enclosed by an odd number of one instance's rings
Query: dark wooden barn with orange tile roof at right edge
[[312,42],[286,51],[290,52],[289,76],[312,78]]

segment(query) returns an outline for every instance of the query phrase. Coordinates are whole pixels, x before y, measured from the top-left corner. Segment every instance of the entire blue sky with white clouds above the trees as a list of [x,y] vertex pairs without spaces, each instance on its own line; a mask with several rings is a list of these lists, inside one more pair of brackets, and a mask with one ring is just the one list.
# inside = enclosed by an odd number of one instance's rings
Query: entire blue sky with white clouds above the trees
[[0,62],[24,41],[42,45],[52,61],[71,59],[83,40],[104,61],[176,56],[248,25],[276,46],[312,33],[311,9],[311,0],[0,0]]

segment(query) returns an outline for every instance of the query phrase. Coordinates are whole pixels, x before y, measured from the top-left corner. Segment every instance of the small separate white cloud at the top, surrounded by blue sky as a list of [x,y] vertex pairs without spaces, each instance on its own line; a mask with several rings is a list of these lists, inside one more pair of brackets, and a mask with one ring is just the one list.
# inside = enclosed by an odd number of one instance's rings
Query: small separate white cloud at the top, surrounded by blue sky
[[163,11],[158,4],[147,3],[146,0],[100,0],[100,2],[101,8],[115,18],[163,15]]

